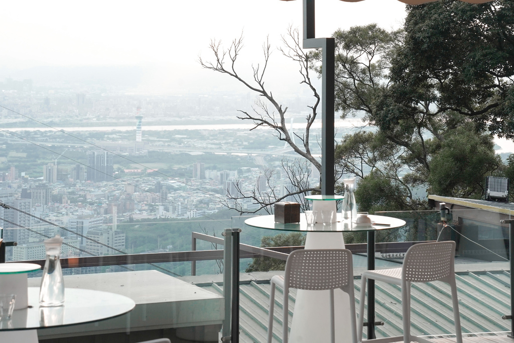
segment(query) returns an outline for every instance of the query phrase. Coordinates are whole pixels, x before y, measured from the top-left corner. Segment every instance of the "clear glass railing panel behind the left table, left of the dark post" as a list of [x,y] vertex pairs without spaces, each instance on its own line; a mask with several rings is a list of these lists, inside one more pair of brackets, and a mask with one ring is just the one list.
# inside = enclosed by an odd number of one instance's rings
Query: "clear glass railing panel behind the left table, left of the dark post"
[[[17,325],[21,314],[28,318],[23,321],[26,325],[48,326],[38,330],[39,340],[47,343],[57,339],[73,342],[78,336],[84,341],[104,339],[101,337],[105,332],[109,332],[109,340],[126,340],[130,334],[131,341],[161,337],[172,341],[217,341],[225,317],[221,233],[230,227],[230,223],[230,219],[127,221],[117,224],[116,232],[122,233],[122,242],[116,240],[116,235],[108,235],[112,231],[109,225],[102,232],[104,237],[100,238],[91,236],[91,232],[84,232],[85,237],[81,237],[46,224],[4,229],[6,241],[19,243],[6,249],[6,258],[10,262],[44,263],[42,240],[56,233],[62,234],[68,244],[63,245],[61,254],[66,311],[57,313],[55,309],[58,308],[40,310],[42,270],[27,273],[28,304],[32,307],[14,311],[9,326],[7,321],[3,321],[0,335],[6,328],[20,329]],[[212,252],[191,251],[193,232],[209,236],[207,240],[196,241],[196,250]],[[221,242],[211,242],[213,239]],[[113,252],[115,255],[110,255]],[[84,261],[83,257],[93,260]],[[195,261],[197,276],[191,276]],[[85,263],[83,267],[72,267],[82,263]],[[202,275],[209,277],[206,279]],[[132,302],[130,299],[137,304],[128,314],[102,311],[101,303],[87,300],[88,297],[101,299],[100,293],[94,293],[100,291],[115,294],[102,300],[110,304],[110,308],[120,311],[124,308],[121,303],[116,303],[119,300],[117,295],[126,297],[120,299],[128,299],[128,305]],[[116,318],[109,318],[113,316]],[[61,327],[72,323],[70,320],[94,322]]]

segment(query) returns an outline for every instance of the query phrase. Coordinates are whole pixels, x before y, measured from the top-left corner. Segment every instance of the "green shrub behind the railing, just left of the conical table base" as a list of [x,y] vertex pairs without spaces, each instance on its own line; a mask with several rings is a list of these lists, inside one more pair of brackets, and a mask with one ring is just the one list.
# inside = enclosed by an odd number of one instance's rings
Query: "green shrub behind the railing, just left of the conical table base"
[[[277,246],[300,246],[305,245],[305,236],[301,232],[289,234],[280,233],[277,236],[264,236],[261,240],[261,248]],[[286,261],[272,259],[269,257],[254,258],[246,268],[246,273],[269,272],[269,270],[284,270]]]

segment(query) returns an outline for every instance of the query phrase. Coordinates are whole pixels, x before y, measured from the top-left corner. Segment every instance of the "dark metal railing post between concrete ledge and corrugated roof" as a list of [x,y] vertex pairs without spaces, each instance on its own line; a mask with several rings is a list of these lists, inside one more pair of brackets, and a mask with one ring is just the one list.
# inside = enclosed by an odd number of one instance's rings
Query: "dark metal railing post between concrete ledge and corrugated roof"
[[226,229],[223,274],[223,296],[225,297],[225,319],[222,342],[239,343],[239,234],[241,229]]

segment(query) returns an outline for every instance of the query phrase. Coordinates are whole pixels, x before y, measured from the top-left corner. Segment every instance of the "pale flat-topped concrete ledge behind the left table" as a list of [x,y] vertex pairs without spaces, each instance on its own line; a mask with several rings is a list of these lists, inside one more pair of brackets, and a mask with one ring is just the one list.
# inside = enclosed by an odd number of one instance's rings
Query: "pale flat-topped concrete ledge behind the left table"
[[[40,283],[41,278],[29,279],[29,286]],[[64,277],[64,284],[66,288],[124,295],[133,299],[136,307],[125,315],[99,322],[38,330],[40,339],[168,328],[221,328],[223,322],[222,296],[156,270],[69,275]]]

